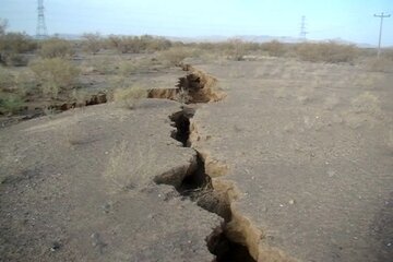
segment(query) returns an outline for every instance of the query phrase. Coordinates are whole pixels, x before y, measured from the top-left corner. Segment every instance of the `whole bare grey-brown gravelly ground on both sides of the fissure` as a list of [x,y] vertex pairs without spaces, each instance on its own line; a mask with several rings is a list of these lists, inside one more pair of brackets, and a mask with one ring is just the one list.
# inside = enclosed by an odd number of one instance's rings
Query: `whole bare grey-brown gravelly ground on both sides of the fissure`
[[392,74],[194,68],[1,129],[0,261],[393,261]]

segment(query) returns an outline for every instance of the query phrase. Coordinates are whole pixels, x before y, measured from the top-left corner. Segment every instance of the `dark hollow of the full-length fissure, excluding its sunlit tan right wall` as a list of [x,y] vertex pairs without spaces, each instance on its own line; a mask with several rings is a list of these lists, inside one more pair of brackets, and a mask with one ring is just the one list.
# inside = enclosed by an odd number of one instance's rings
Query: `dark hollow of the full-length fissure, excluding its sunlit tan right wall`
[[[190,67],[187,69],[190,69]],[[186,78],[180,79],[179,86],[191,86],[191,90],[196,91],[189,92],[191,97],[193,97],[190,99],[191,102],[205,103],[211,98],[204,96],[206,93],[200,91],[204,88],[205,83],[212,84],[213,82],[215,83],[216,80],[209,80],[209,76],[206,75],[201,76],[201,72],[199,72],[199,75],[200,76],[188,74]],[[212,90],[212,86],[210,86],[210,90]],[[222,95],[221,97],[224,96]],[[184,147],[193,148],[190,141],[190,119],[194,116],[195,111],[196,109],[193,106],[182,106],[180,111],[177,111],[169,117],[172,126],[176,128],[171,133],[171,138],[179,141]],[[224,189],[225,187],[222,187],[221,190],[217,190],[214,188],[212,178],[205,171],[205,159],[203,154],[195,148],[193,150],[195,151],[196,157],[194,163],[190,164],[190,167],[194,166],[192,171],[181,176],[183,179],[180,184],[175,183],[176,179],[174,180],[174,183],[170,179],[166,179],[165,183],[172,184],[182,198],[190,199],[200,207],[211,213],[215,213],[223,218],[224,222],[222,225],[215,228],[205,239],[207,249],[216,257],[214,261],[257,261],[250,254],[247,241],[245,241],[246,236],[235,238],[234,236],[241,235],[242,233],[235,229],[234,226],[229,226],[230,224],[234,224],[231,211],[231,201],[234,198],[230,198],[228,193],[229,189]],[[175,177],[178,176],[174,175],[174,178]]]

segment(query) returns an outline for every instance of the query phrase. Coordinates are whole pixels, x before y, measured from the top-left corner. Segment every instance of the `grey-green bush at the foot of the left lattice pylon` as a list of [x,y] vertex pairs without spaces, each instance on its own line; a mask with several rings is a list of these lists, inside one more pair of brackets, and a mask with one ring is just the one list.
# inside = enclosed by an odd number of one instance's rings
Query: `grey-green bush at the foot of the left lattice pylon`
[[74,50],[70,41],[51,38],[40,43],[38,55],[41,58],[69,58],[74,55]]

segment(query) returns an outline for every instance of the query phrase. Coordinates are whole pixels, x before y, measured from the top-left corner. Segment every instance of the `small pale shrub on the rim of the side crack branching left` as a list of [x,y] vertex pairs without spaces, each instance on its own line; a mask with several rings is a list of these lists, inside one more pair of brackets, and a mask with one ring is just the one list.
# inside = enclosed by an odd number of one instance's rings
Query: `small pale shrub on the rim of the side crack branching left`
[[114,92],[114,100],[122,103],[129,109],[134,109],[138,102],[146,98],[147,95],[147,90],[134,85],[126,88],[116,88]]

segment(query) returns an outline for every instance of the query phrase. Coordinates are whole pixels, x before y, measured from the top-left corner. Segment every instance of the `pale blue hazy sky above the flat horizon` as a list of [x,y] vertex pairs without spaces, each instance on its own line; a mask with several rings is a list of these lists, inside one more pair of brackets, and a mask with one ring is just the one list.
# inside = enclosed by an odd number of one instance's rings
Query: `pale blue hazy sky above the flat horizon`
[[[378,43],[380,20],[393,0],[45,0],[49,34],[152,34],[167,36],[272,35],[297,37],[306,15],[308,38]],[[34,35],[37,0],[0,0],[10,31]],[[393,16],[383,44],[393,45]]]

